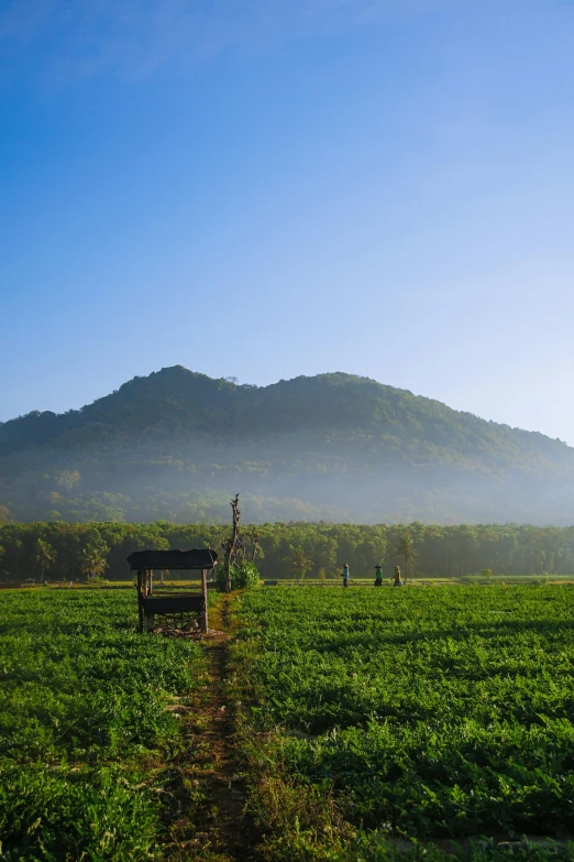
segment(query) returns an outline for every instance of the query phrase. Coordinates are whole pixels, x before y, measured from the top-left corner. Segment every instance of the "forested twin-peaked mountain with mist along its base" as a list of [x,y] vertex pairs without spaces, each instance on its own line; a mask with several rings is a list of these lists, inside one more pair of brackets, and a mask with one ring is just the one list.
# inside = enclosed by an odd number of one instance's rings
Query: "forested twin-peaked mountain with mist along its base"
[[181,365],[0,424],[14,520],[574,521],[574,449],[367,378],[269,386]]

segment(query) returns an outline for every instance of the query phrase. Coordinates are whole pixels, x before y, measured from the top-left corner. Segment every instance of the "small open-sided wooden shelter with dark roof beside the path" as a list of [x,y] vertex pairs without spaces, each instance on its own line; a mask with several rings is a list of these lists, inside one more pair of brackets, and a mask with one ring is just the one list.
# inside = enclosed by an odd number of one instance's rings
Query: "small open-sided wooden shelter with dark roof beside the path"
[[[194,550],[135,550],[128,557],[133,571],[137,572],[137,609],[140,631],[151,631],[155,617],[165,617],[180,623],[199,617],[201,631],[208,630],[207,579],[212,572],[218,555],[211,548]],[[201,571],[201,592],[174,593],[159,588],[154,592],[153,574],[158,570]]]

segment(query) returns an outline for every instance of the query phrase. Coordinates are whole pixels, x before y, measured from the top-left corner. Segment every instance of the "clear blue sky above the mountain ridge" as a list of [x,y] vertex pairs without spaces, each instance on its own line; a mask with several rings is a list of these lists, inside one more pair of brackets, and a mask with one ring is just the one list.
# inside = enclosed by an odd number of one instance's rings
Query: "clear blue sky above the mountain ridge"
[[572,0],[0,0],[0,419],[347,371],[574,445]]

